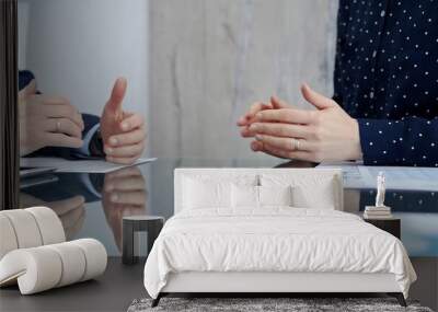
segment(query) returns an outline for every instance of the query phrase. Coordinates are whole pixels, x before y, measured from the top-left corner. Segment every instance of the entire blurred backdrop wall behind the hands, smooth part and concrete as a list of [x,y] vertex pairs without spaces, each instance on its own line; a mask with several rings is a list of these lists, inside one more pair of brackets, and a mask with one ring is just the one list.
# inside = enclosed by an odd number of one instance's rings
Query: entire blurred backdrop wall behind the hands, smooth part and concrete
[[263,158],[235,127],[252,102],[278,94],[309,107],[303,81],[332,94],[336,0],[20,2],[21,65],[39,89],[100,114],[126,76],[148,154]]

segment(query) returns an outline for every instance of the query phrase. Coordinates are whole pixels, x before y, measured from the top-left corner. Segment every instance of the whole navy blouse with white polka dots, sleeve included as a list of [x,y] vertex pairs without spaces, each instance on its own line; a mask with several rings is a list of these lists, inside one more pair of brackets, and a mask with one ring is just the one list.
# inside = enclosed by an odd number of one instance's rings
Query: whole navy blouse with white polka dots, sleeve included
[[365,164],[438,166],[438,0],[341,0],[334,90]]

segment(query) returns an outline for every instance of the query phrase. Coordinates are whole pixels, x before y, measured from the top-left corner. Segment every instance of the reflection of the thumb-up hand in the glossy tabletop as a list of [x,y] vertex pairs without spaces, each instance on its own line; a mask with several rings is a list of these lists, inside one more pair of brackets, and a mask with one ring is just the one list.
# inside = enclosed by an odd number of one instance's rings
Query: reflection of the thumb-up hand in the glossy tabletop
[[123,217],[146,215],[146,182],[138,167],[126,167],[105,174],[102,205],[119,250]]

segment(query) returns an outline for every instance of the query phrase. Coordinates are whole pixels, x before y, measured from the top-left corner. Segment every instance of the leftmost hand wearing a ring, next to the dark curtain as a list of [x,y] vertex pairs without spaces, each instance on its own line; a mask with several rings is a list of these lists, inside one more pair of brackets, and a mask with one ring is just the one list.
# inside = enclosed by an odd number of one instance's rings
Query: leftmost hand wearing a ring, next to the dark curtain
[[36,94],[35,80],[20,91],[19,112],[21,155],[44,147],[82,146],[82,115],[65,97]]

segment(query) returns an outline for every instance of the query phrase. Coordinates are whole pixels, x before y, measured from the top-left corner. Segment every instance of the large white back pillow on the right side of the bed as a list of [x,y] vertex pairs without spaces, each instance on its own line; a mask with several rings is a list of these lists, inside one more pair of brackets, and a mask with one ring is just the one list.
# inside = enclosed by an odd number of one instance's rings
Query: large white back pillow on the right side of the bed
[[338,205],[336,178],[333,174],[262,174],[262,186],[292,188],[292,206],[299,208],[335,209]]

